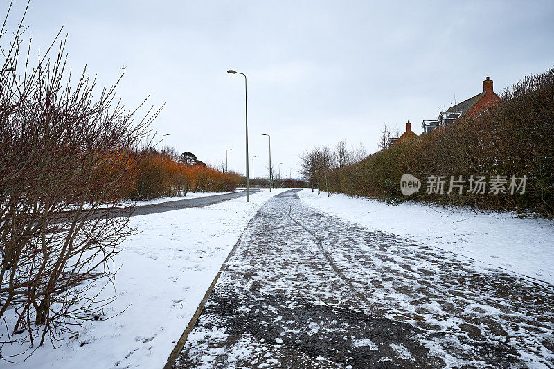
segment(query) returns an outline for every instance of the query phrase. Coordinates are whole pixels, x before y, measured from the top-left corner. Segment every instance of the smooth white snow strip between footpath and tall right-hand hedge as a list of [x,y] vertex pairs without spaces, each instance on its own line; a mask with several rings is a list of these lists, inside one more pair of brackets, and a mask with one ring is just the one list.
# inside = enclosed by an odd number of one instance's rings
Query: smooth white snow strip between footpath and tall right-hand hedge
[[364,228],[394,233],[554,286],[553,221],[409,201],[391,206],[343,194],[317,195],[309,188],[298,195],[306,204]]

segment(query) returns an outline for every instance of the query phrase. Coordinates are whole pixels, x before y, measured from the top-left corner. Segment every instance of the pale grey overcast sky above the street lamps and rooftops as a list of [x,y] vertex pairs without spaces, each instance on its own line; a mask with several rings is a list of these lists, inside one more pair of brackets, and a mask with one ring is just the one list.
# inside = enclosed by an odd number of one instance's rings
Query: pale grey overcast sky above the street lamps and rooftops
[[[6,3],[5,1],[4,3]],[[16,0],[17,11],[26,1]],[[16,11],[16,14],[17,14]],[[64,26],[69,65],[118,96],[165,109],[165,143],[244,173],[244,79],[255,174],[288,176],[314,145],[376,150],[383,125],[423,119],[554,66],[554,1],[34,0],[27,37],[44,48]],[[161,145],[159,145],[161,148]],[[293,170],[294,173],[294,170]],[[295,174],[293,174],[294,176]],[[296,174],[298,175],[298,174]]]

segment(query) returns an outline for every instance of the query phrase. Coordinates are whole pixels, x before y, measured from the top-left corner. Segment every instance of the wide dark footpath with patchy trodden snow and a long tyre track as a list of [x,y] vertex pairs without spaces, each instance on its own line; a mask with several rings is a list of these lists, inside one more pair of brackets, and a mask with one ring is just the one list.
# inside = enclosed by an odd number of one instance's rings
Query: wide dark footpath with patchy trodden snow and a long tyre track
[[554,290],[299,201],[249,222],[177,368],[554,368]]

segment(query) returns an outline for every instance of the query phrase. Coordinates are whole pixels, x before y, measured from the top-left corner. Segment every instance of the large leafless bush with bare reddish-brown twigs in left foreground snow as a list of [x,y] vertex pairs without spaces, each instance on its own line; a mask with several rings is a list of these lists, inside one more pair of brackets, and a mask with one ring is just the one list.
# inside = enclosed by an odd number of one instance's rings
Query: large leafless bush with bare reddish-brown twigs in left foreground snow
[[[0,316],[9,330],[1,341],[44,345],[109,302],[91,287],[113,274],[108,261],[133,231],[128,216],[98,209],[132,186],[140,156],[131,153],[159,110],[134,122],[136,110],[114,102],[117,83],[95,97],[85,72],[73,82],[64,39],[55,58],[48,49],[30,66],[23,32],[1,50]],[[4,21],[0,45],[8,35]]]

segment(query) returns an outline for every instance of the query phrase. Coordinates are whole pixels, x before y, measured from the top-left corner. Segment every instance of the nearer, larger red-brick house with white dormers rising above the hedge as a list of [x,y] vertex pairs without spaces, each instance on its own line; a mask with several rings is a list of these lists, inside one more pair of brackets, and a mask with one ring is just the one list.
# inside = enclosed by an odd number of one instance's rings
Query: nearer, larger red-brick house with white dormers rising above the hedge
[[423,120],[421,124],[423,133],[431,132],[436,127],[445,127],[454,123],[461,116],[478,116],[488,107],[500,101],[501,98],[492,89],[492,80],[487,77],[483,81],[483,92],[450,107],[447,111],[441,111],[436,120]]

